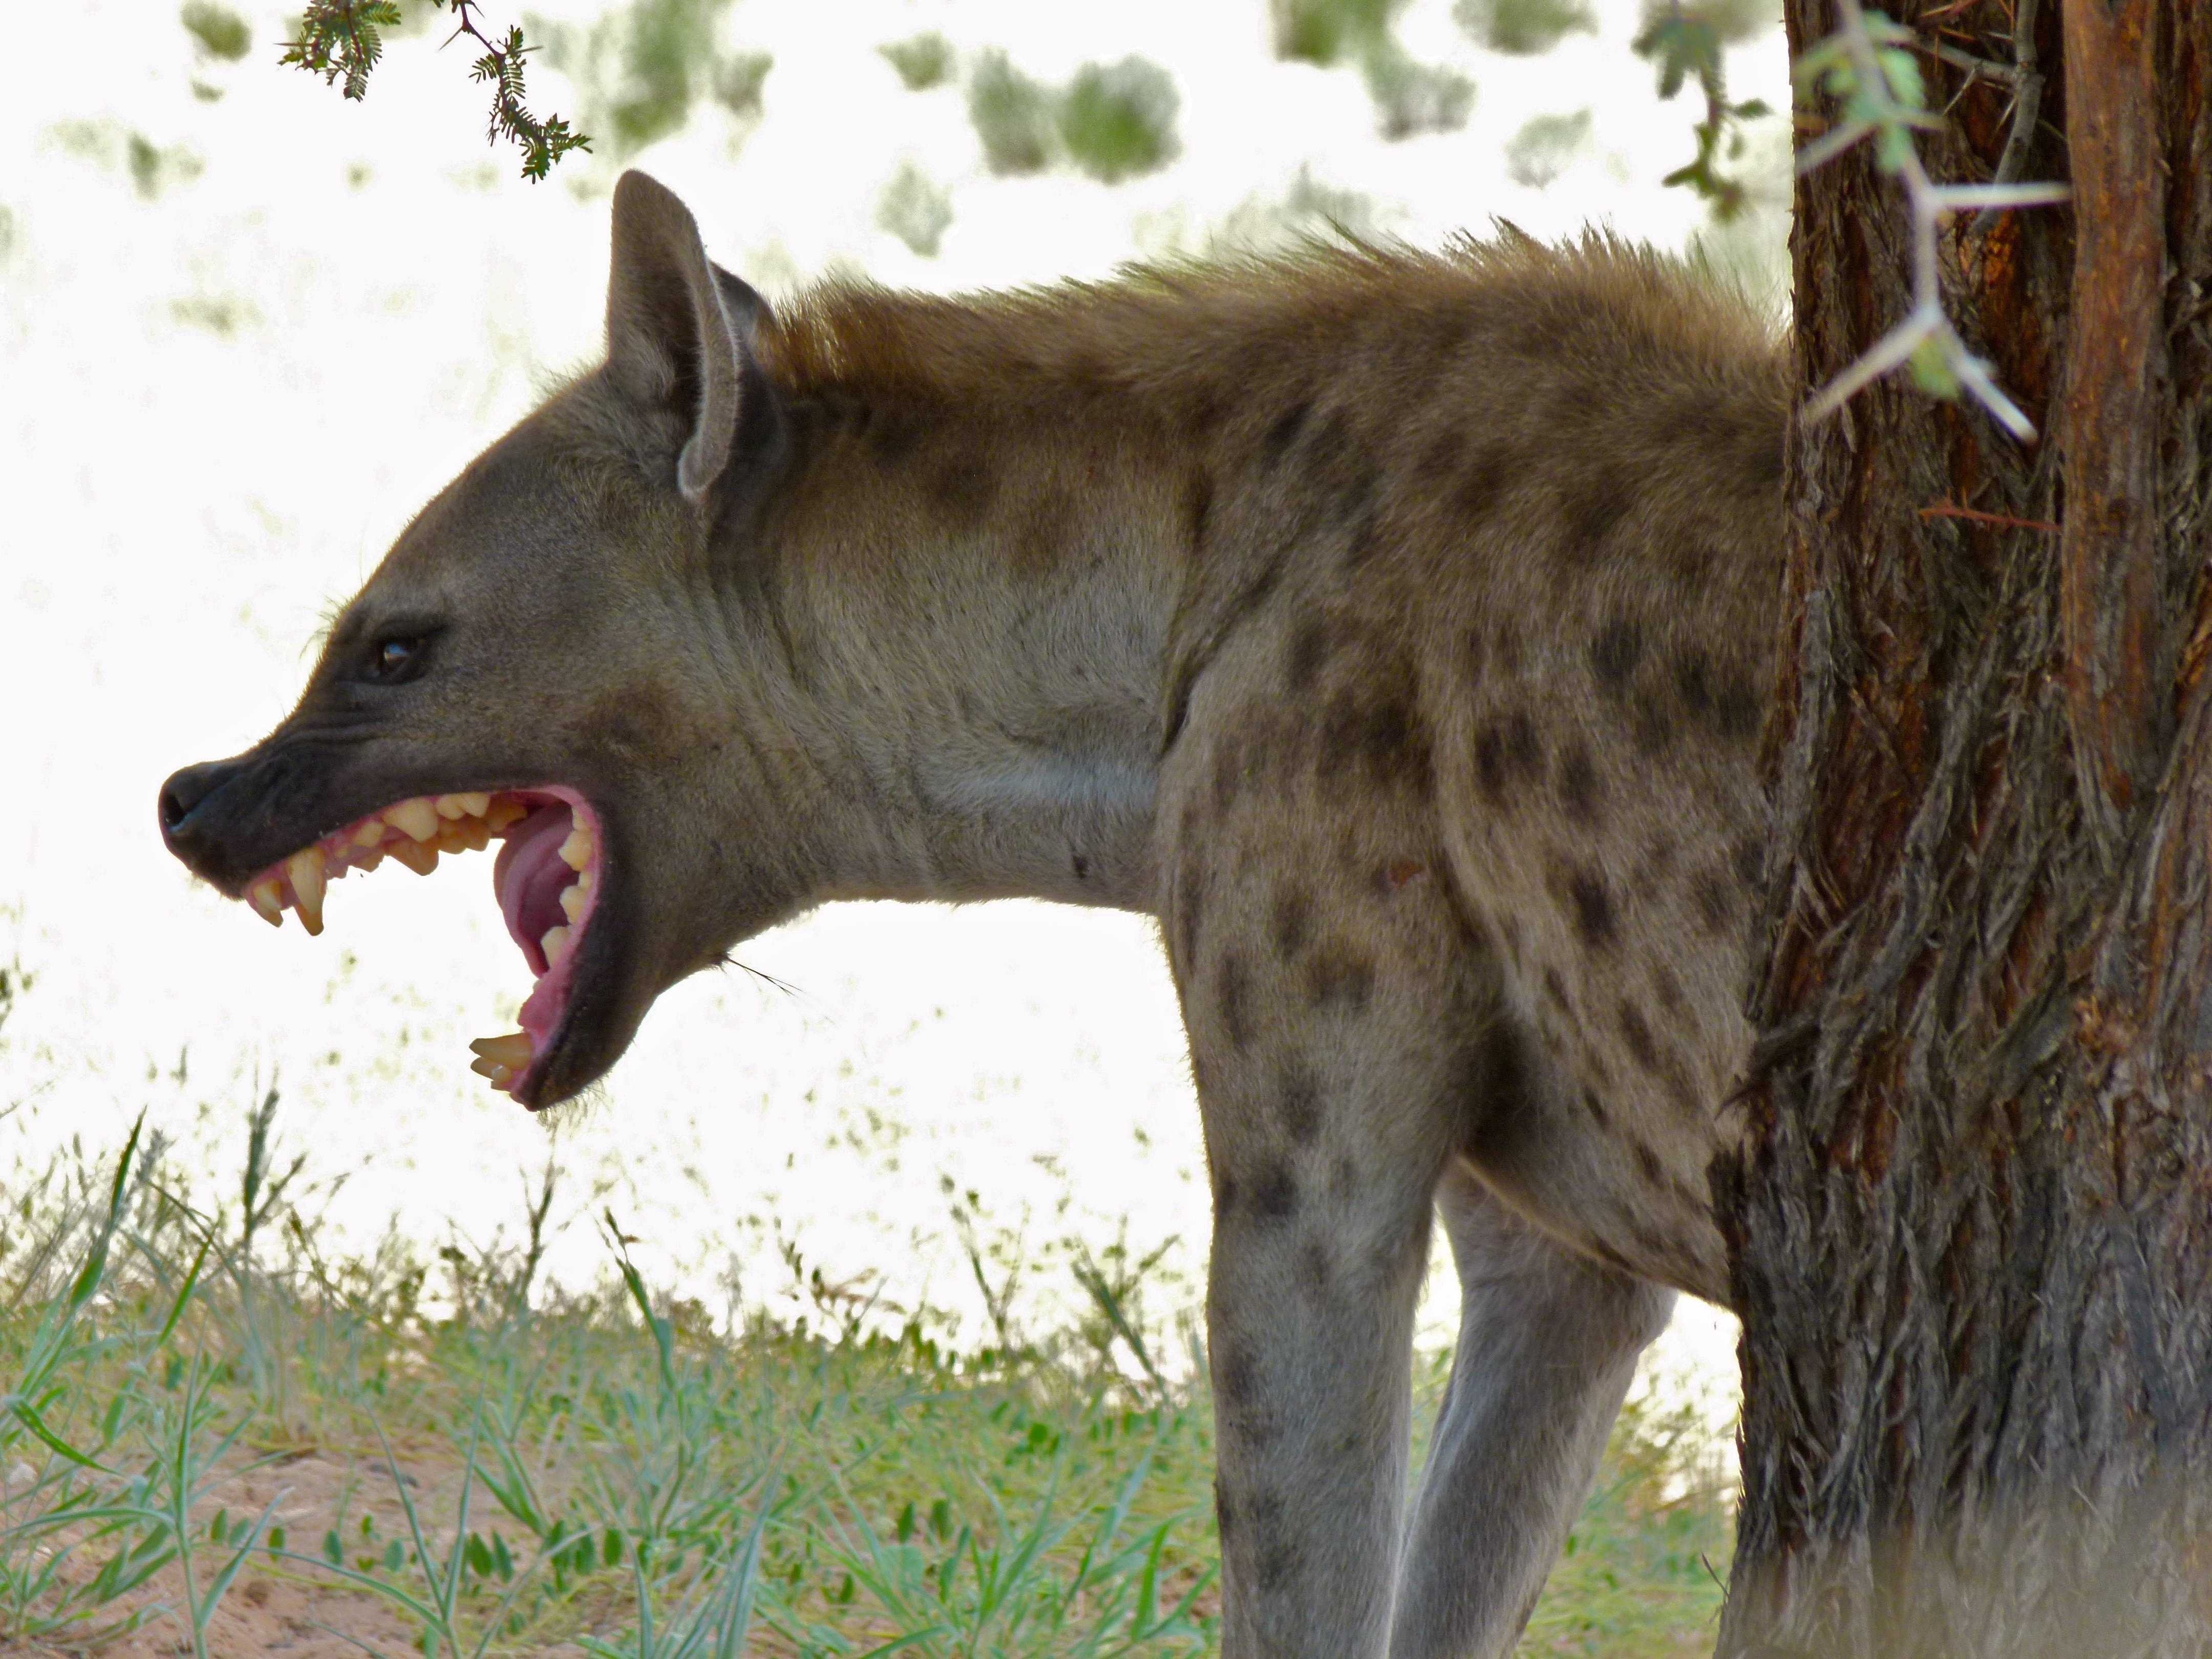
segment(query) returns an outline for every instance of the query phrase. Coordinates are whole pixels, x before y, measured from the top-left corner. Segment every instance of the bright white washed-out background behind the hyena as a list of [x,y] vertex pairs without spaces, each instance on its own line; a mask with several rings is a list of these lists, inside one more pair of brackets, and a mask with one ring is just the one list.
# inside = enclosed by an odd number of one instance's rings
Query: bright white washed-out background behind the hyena
[[[292,1144],[347,1175],[332,1208],[347,1237],[398,1217],[422,1239],[447,1221],[489,1239],[546,1155],[540,1126],[465,1071],[467,1037],[509,1029],[526,989],[489,860],[429,880],[387,865],[332,889],[323,938],[270,933],[190,885],[153,799],[175,765],[283,714],[325,606],[544,374],[595,352],[613,168],[575,157],[520,184],[513,155],[482,146],[460,49],[396,40],[369,100],[343,104],[274,66],[276,7],[241,9],[243,64],[195,66],[168,0],[18,7],[0,60],[0,962],[38,975],[0,1055],[0,1110],[20,1104],[0,1170],[73,1135],[113,1150],[144,1108],[232,1181],[254,1079],[276,1077]],[[1356,71],[1272,60],[1263,0],[737,0],[723,40],[774,53],[763,122],[734,146],[708,108],[637,164],[770,296],[830,263],[929,288],[1097,276],[1201,248],[1301,168],[1413,241],[1502,215],[1542,237],[1606,221],[1681,243],[1701,208],[1657,179],[1690,157],[1697,111],[1655,102],[1626,44],[1635,4],[1597,9],[1597,38],[1506,60],[1453,27],[1449,0],[1416,0],[1400,40],[1475,80],[1473,119],[1385,144]],[[907,93],[874,53],[920,29],[1004,46],[1044,80],[1141,53],[1181,93],[1181,159],[1119,188],[993,179],[962,93]],[[1778,31],[1730,69],[1734,95],[1787,108]],[[221,102],[197,102],[195,75]],[[533,104],[575,113],[544,64]],[[1546,190],[1511,184],[1520,124],[1577,108],[1595,115],[1588,153]],[[71,142],[71,122],[93,137]],[[199,175],[142,201],[115,159],[128,131],[190,150]],[[100,146],[111,159],[84,153]],[[874,226],[909,159],[951,190],[938,259]],[[1739,243],[1772,268],[1778,215]],[[228,336],[208,327],[226,314]],[[734,1254],[745,1294],[768,1296],[781,1267],[757,1221],[774,1214],[832,1279],[874,1267],[894,1301],[927,1287],[969,1305],[945,1175],[1009,1228],[1026,1214],[1031,1243],[1179,1234],[1168,1265],[1197,1283],[1197,1110],[1150,922],[836,907],[743,958],[799,995],[743,975],[679,987],[604,1102],[560,1128],[573,1186],[555,1217],[575,1221],[557,1272],[604,1263],[597,1183],[664,1283],[708,1287]],[[1440,1312],[1431,1296],[1431,1327]],[[1725,1389],[1728,1340],[1699,1310],[1659,1365]]]

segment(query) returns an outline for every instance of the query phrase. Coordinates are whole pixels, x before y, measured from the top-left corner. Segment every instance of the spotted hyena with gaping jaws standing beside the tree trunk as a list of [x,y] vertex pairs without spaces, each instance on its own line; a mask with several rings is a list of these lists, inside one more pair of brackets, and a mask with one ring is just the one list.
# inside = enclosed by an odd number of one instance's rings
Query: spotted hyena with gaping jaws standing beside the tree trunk
[[[299,708],[161,790],[270,920],[502,838],[531,1108],[830,898],[1159,918],[1212,1175],[1225,1650],[1504,1652],[1674,1292],[1763,849],[1785,372],[1588,237],[779,312],[615,192],[606,363]],[[1413,1298],[1462,1327],[1402,1517]]]

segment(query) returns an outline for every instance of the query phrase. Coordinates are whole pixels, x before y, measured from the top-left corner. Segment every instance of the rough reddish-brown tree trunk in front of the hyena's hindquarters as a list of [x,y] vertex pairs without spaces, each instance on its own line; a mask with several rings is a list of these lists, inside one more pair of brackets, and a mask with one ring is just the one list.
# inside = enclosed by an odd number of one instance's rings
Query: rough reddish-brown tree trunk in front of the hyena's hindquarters
[[[1958,219],[1942,265],[2044,440],[1902,376],[1792,434],[1761,1044],[1714,1170],[1723,1655],[2212,1650],[2212,0],[1891,11],[2011,66],[2015,7],[2017,177],[2075,201]],[[1838,22],[1787,11],[1794,53]],[[1929,173],[1991,179],[2028,88],[1920,66]],[[1805,394],[1911,303],[1869,148],[1798,181]]]

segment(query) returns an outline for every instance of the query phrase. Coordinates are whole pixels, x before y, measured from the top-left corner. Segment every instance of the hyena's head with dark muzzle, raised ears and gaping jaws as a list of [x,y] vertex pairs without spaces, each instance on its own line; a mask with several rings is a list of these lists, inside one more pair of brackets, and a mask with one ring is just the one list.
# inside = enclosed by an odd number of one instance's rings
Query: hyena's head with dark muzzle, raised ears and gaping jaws
[[787,451],[748,349],[759,299],[644,175],[615,190],[606,363],[400,533],[292,714],[161,785],[168,847],[276,922],[323,885],[500,838],[535,991],[476,1068],[540,1108],[595,1082],[653,998],[818,896],[838,814],[712,560]]

